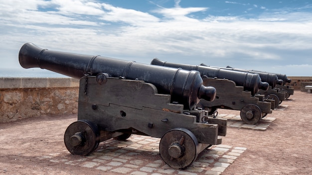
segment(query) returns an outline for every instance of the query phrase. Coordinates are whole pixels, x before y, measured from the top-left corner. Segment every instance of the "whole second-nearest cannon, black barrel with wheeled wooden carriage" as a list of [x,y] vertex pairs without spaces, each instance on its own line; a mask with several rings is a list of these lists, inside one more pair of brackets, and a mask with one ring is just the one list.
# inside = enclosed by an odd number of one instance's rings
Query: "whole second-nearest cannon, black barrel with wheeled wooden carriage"
[[258,74],[168,63],[157,58],[151,64],[199,71],[204,85],[213,85],[217,89],[217,95],[214,101],[200,100],[197,106],[208,110],[209,115],[214,117],[218,108],[240,110],[245,123],[255,124],[274,109],[272,100],[265,101],[264,95],[256,94],[259,88],[267,90],[269,87],[268,83],[261,82]]

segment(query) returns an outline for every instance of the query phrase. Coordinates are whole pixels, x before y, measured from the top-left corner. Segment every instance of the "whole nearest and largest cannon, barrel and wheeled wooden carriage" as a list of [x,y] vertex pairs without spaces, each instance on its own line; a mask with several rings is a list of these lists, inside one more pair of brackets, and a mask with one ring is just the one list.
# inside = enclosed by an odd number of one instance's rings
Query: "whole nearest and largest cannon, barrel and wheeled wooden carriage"
[[72,154],[91,154],[111,138],[148,135],[161,138],[162,160],[179,169],[226,135],[227,120],[195,108],[200,99],[213,101],[216,95],[214,87],[203,86],[197,71],[50,51],[32,43],[24,44],[18,57],[23,68],[80,79],[78,120],[64,134]]

